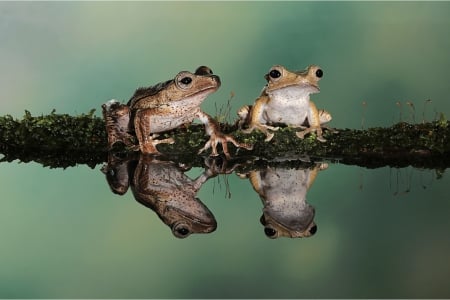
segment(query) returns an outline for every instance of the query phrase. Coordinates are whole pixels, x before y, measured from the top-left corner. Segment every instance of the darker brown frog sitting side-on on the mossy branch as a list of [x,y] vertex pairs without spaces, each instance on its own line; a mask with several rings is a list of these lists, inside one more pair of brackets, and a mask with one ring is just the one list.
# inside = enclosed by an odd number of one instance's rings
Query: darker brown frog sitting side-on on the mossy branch
[[210,68],[201,66],[195,73],[183,71],[172,80],[136,90],[127,105],[110,100],[102,105],[109,147],[116,142],[132,146],[135,133],[142,153],[158,154],[158,144],[174,143],[172,138],[156,139],[159,133],[189,124],[197,118],[210,136],[199,153],[211,148],[211,156],[217,156],[217,144],[221,143],[225,156],[229,158],[228,142],[251,149],[251,146],[223,134],[218,123],[200,109],[206,97],[219,87],[219,76],[213,75]]

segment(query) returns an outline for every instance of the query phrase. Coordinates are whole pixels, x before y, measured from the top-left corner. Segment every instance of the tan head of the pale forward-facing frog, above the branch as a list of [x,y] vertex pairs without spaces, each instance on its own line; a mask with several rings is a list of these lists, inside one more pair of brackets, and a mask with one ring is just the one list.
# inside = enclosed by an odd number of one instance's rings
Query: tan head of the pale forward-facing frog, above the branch
[[264,78],[267,80],[266,91],[268,93],[295,88],[302,89],[308,94],[314,94],[320,91],[318,83],[322,76],[322,69],[316,65],[311,65],[303,71],[289,71],[281,65],[275,65]]

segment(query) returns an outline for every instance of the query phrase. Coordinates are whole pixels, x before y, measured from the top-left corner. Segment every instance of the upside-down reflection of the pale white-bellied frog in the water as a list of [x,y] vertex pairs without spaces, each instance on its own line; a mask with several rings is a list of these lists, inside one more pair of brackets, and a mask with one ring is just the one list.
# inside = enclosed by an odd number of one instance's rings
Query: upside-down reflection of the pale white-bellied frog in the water
[[269,238],[298,238],[316,233],[315,210],[306,202],[306,193],[325,163],[313,168],[285,169],[267,167],[246,176],[264,204],[261,223]]

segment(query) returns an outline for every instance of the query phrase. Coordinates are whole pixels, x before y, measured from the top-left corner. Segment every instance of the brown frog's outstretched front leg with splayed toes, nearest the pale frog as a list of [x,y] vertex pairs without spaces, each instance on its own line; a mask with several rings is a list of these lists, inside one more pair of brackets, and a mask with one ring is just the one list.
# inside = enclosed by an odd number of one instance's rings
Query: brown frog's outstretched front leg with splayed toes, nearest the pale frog
[[205,124],[206,134],[209,135],[209,140],[198,153],[202,153],[206,149],[211,148],[211,156],[218,156],[219,153],[217,152],[217,144],[221,143],[225,157],[230,159],[231,156],[228,152],[228,142],[233,143],[233,145],[238,148],[244,148],[247,150],[253,149],[251,145],[239,143],[232,136],[223,134],[219,129],[219,124],[210,115],[199,111],[196,116],[203,124]]

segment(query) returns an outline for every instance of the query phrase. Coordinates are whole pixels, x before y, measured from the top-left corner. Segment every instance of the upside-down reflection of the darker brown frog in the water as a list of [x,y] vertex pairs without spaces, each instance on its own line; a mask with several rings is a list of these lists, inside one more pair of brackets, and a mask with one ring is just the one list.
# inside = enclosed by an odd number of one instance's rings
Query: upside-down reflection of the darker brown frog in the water
[[135,199],[152,209],[178,238],[210,233],[217,227],[214,215],[196,197],[203,183],[217,173],[211,168],[191,179],[185,171],[174,162],[148,155],[120,159],[110,154],[102,168],[114,193],[123,195],[130,186]]

